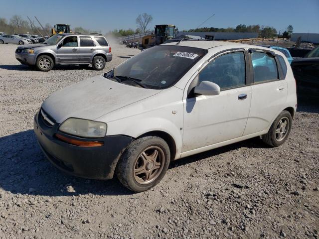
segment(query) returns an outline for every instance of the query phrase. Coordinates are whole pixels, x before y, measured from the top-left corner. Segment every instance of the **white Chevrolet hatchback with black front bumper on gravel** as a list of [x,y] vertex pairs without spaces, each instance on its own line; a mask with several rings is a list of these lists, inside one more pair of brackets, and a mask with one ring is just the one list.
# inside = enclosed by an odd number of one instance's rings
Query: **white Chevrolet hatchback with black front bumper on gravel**
[[141,192],[169,162],[261,136],[283,144],[297,108],[286,57],[259,46],[185,41],[147,49],[53,93],[34,117],[46,157]]

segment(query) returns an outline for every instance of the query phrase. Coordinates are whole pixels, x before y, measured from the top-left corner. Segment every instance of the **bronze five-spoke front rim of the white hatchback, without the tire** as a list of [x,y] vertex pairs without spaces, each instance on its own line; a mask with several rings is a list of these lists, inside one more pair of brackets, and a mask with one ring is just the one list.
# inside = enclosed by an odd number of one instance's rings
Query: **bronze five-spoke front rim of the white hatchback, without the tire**
[[134,178],[140,184],[156,180],[165,164],[164,151],[158,146],[146,148],[134,164]]

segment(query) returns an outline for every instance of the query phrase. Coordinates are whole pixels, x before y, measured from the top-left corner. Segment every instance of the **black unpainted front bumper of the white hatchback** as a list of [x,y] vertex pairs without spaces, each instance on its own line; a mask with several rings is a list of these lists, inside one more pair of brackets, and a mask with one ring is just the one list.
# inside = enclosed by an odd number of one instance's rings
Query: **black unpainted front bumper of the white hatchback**
[[[59,131],[60,124],[47,126],[40,113],[34,117],[34,132],[38,143],[48,160],[57,168],[68,174],[90,178],[111,179],[116,164],[125,150],[133,141],[124,135],[105,136],[104,138],[85,139],[64,134]],[[66,143],[58,139],[55,134],[67,136],[83,141],[102,141],[97,147],[82,147]]]

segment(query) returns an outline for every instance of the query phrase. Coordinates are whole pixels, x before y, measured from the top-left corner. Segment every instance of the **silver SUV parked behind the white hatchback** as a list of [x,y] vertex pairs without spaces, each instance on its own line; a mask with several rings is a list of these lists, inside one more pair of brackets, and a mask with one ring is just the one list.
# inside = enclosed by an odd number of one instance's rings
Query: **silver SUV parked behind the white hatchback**
[[102,35],[56,34],[40,44],[19,46],[15,58],[40,71],[50,71],[56,64],[92,64],[93,69],[102,70],[112,60],[112,53]]

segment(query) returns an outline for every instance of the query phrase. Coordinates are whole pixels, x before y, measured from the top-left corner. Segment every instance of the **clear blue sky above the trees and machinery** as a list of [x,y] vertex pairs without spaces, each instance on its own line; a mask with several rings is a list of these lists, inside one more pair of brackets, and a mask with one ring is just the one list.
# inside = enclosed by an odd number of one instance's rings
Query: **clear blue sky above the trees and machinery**
[[319,33],[319,0],[0,0],[0,17],[37,16],[41,23],[70,24],[103,33],[115,28],[136,29],[135,19],[146,12],[156,24],[182,29],[270,25],[277,31],[289,24],[294,32]]

